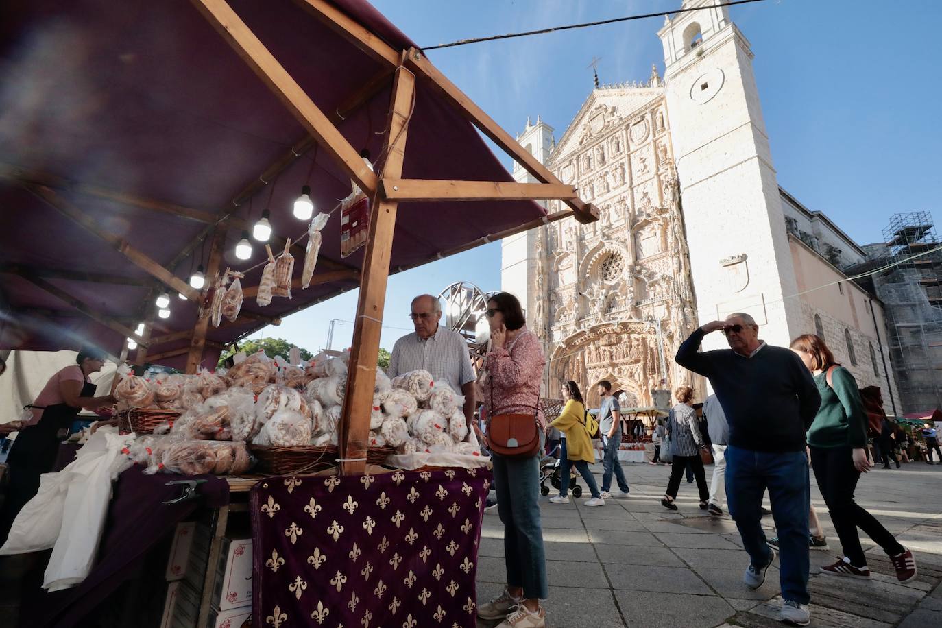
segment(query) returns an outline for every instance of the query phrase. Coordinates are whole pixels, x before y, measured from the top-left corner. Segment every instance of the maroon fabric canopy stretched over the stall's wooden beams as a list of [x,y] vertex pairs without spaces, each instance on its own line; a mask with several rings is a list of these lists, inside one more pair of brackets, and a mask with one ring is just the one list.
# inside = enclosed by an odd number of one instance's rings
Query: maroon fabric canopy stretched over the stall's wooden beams
[[[326,115],[355,94],[382,66],[291,0],[231,0],[230,5]],[[364,0],[333,4],[397,50],[414,43]],[[391,86],[338,124],[356,149],[374,157],[385,139]],[[24,187],[57,194],[120,235],[158,264],[171,266],[211,222],[143,209],[114,194],[254,222],[268,207],[274,233],[296,238],[306,225],[291,214],[301,185],[311,185],[317,210],[349,195],[349,179],[326,151],[302,154],[250,201],[233,200],[306,136],[300,123],[187,2],[144,0],[8,0],[0,5],[0,347],[59,349],[92,342],[118,353],[123,335],[29,282],[39,275],[89,308],[134,329],[154,314],[153,277],[105,240],[79,227]],[[316,168],[310,174],[312,155]],[[403,178],[512,181],[474,127],[428,84],[418,81]],[[95,186],[97,193],[89,193]],[[392,271],[436,259],[476,239],[544,216],[532,201],[400,203]],[[342,260],[339,211],[324,230],[321,259],[359,269],[363,250]],[[241,230],[228,227],[222,267],[262,261],[253,241],[249,262],[235,259]],[[276,251],[277,252],[277,251]],[[209,239],[170,270],[186,280],[206,264]],[[295,276],[302,260],[296,255]],[[318,267],[323,272],[329,265]],[[116,278],[76,279],[73,273]],[[258,284],[260,270],[243,280]],[[86,281],[97,279],[99,281]],[[107,282],[102,282],[105,279]],[[122,282],[122,280],[124,280]],[[138,284],[135,284],[135,283]],[[277,317],[339,292],[355,280],[295,290],[243,312]],[[163,291],[164,288],[159,288]],[[170,319],[154,318],[154,335],[192,329],[195,304],[171,292]],[[12,319],[12,323],[10,320]],[[265,323],[248,316],[207,339],[227,343]],[[150,352],[187,346],[189,339],[152,345]],[[215,362],[207,351],[206,363]],[[218,351],[217,351],[218,353]],[[184,357],[161,363],[179,365]]]

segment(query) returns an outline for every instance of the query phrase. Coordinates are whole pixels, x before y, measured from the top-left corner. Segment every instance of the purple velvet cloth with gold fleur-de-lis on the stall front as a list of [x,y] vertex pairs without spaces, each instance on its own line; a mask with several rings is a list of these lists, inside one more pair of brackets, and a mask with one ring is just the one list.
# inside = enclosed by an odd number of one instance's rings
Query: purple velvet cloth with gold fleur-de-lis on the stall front
[[477,626],[484,469],[268,478],[252,489],[253,622]]

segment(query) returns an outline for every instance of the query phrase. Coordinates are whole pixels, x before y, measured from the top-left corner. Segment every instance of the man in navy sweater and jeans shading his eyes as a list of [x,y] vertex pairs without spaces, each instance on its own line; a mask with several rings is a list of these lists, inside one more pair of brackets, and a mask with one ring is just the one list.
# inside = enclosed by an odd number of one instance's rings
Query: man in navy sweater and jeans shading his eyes
[[[723,331],[730,348],[699,352],[704,336],[717,330]],[[809,485],[804,433],[820,405],[814,379],[789,349],[760,341],[749,314],[707,323],[690,334],[675,359],[709,378],[729,424],[727,502],[751,560],[743,581],[749,588],[761,587],[775,559],[762,531],[762,495],[768,489],[785,599],[779,619],[807,625]]]

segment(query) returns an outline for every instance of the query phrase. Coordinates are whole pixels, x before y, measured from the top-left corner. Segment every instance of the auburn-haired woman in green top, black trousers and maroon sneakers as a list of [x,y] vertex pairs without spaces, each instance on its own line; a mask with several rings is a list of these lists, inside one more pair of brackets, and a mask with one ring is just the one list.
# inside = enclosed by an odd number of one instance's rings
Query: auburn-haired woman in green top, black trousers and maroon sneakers
[[867,456],[867,413],[857,382],[850,371],[835,361],[824,341],[813,333],[791,341],[791,350],[811,371],[821,395],[818,415],[807,433],[808,448],[818,488],[844,550],[843,557],[833,565],[821,567],[820,571],[869,579],[867,558],[857,534],[859,527],[890,557],[900,582],[913,580],[917,573],[913,553],[853,501],[857,479],[872,466]]

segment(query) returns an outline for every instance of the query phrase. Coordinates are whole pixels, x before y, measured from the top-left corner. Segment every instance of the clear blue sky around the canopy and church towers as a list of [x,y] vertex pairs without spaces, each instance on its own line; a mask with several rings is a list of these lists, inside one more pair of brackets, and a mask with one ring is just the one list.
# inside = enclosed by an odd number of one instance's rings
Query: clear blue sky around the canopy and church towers
[[[679,8],[680,0],[374,0],[420,46]],[[882,240],[891,214],[942,211],[938,28],[942,3],[908,0],[767,0],[730,9],[751,42],[778,183],[860,244]],[[435,65],[510,133],[539,114],[559,139],[593,87],[663,74],[663,18],[430,51]],[[503,158],[503,155],[501,155]],[[510,158],[504,159],[510,166]],[[414,295],[451,282],[500,288],[500,245],[487,245],[390,278],[381,346],[411,330]],[[333,348],[349,346],[356,294],[348,293],[258,335],[317,350],[329,321]]]

